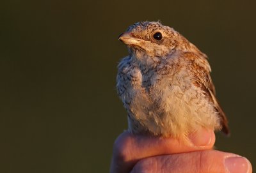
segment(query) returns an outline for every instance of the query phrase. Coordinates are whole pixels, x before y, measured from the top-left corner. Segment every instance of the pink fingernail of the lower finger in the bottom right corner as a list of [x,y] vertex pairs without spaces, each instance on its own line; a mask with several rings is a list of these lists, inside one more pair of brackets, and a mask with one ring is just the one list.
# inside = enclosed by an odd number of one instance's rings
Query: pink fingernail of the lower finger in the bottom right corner
[[247,173],[250,162],[244,157],[229,157],[225,159],[225,167],[229,173]]

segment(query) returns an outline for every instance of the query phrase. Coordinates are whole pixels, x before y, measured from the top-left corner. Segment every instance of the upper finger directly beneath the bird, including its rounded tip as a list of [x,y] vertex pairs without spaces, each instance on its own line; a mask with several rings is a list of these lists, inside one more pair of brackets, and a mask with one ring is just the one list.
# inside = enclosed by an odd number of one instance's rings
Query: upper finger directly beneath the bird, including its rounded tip
[[111,172],[129,172],[138,160],[150,156],[211,149],[215,135],[212,130],[202,128],[189,135],[189,140],[191,143],[172,137],[147,137],[124,132],[114,144]]

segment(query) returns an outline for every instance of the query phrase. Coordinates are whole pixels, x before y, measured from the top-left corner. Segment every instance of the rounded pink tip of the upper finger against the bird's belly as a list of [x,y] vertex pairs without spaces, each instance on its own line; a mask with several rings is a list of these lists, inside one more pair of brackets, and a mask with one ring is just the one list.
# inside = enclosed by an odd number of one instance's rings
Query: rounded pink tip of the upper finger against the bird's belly
[[195,133],[189,135],[189,140],[198,147],[206,147],[211,144],[212,138],[214,137],[214,132],[212,130],[207,130],[203,128]]

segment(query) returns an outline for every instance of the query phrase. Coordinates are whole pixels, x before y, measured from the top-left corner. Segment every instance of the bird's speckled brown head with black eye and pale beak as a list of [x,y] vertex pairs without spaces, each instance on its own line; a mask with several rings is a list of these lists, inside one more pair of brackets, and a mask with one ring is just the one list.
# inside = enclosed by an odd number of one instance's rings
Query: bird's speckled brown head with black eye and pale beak
[[129,26],[118,40],[127,45],[129,53],[140,57],[164,57],[174,49],[186,49],[188,40],[160,22],[137,22]]

